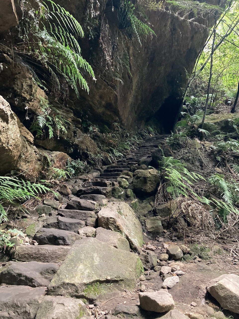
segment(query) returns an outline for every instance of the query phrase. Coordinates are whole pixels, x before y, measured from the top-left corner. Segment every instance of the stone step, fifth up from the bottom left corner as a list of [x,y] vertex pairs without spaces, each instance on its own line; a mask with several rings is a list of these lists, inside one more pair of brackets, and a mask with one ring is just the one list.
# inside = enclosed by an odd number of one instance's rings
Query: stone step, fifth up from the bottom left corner
[[[43,225],[44,228],[56,228],[58,230],[59,229],[68,230],[68,231],[74,232],[74,233],[77,233],[78,229],[80,229],[84,226],[85,226],[85,222],[83,220],[75,219],[75,218],[67,218],[67,217],[62,217],[62,216],[47,217],[45,219],[45,224]],[[59,234],[59,236],[60,236],[60,234]],[[66,234],[66,236],[67,236],[67,234]],[[58,243],[57,245],[63,245],[63,244]],[[64,243],[64,245],[69,245],[69,244]]]

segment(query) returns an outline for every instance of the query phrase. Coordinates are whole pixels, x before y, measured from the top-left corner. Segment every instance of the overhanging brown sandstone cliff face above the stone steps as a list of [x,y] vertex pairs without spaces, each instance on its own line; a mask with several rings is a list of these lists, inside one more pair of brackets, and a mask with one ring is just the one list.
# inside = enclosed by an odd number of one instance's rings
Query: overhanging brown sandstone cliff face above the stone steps
[[[74,0],[70,4],[60,1],[82,25],[87,25],[87,10],[92,3],[91,0]],[[91,25],[101,24],[104,17],[121,37],[124,30],[118,28],[119,20],[117,14],[112,12],[112,4],[117,8],[117,1],[100,1],[98,8],[91,9],[91,12],[98,10]],[[83,14],[81,8],[84,8]],[[156,36],[142,38],[142,46],[137,39],[123,39],[132,74],[131,77],[127,70],[120,74],[124,85],[115,79],[109,80],[109,74],[103,73],[97,64],[102,54],[99,42],[97,37],[89,41],[86,29],[82,49],[89,57],[92,51],[96,56],[91,64],[97,81],[90,82],[90,94],[83,94],[82,100],[76,100],[74,96],[71,98],[75,108],[89,111],[95,121],[120,121],[127,129],[134,129],[153,119],[163,130],[169,131],[177,114],[187,75],[192,71],[208,32],[206,28],[168,12],[151,11],[147,14]],[[207,18],[198,19],[199,23],[206,24],[206,21]],[[209,25],[210,22],[209,19]]]

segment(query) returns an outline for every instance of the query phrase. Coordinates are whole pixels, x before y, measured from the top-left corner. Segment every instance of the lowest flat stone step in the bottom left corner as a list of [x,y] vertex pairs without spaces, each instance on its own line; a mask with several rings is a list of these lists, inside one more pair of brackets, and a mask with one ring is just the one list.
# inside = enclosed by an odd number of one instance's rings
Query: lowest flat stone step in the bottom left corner
[[0,318],[34,319],[46,287],[11,286],[1,288]]

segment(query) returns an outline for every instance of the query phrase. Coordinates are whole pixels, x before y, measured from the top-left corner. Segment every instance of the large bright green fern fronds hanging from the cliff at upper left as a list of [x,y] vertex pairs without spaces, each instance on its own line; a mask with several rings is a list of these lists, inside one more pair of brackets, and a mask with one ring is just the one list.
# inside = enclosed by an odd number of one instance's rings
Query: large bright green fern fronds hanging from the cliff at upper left
[[67,95],[64,92],[67,91],[66,84],[75,90],[78,97],[79,86],[89,92],[83,73],[95,78],[90,64],[81,56],[77,37],[83,37],[84,33],[78,21],[52,0],[33,0],[33,3],[22,0],[21,4],[24,19],[19,27],[19,37],[22,41],[15,46],[14,52],[29,57],[26,62],[36,74],[39,66],[44,68],[43,73],[49,74],[51,90],[56,98]]

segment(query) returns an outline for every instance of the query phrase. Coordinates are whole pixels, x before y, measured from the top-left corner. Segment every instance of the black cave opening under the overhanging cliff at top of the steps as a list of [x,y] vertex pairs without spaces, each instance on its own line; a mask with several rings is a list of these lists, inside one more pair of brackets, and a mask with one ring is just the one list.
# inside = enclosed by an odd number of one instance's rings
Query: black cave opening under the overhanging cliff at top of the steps
[[181,100],[175,96],[169,96],[154,114],[154,119],[163,133],[169,134],[173,130],[175,118],[180,107]]

